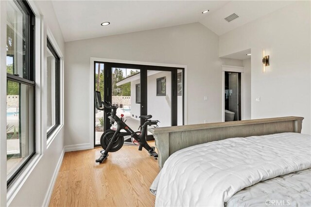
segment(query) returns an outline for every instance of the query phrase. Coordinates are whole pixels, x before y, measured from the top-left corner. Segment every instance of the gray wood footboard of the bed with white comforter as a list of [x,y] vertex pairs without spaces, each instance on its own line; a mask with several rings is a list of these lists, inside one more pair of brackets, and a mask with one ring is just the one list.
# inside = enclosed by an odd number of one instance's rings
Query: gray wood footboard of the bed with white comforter
[[158,164],[164,162],[177,150],[201,143],[233,137],[249,137],[282,132],[301,132],[303,117],[288,116],[253,119],[234,122],[150,128],[155,137]]

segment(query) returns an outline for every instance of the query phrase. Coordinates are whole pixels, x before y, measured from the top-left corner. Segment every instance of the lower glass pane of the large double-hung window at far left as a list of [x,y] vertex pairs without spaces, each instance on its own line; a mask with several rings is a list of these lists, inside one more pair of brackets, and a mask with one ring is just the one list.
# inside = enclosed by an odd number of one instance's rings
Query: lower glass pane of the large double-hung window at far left
[[7,178],[34,152],[34,87],[7,81]]

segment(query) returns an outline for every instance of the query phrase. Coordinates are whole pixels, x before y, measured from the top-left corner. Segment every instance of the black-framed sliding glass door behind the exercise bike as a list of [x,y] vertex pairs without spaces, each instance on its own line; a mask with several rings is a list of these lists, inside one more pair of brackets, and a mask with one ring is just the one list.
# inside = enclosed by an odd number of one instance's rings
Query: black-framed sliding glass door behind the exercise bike
[[[123,114],[134,131],[143,124],[139,116],[147,114],[160,121],[159,127],[184,124],[183,68],[117,63],[95,63],[94,68],[95,90],[119,107],[117,115]],[[95,146],[110,127],[108,117],[95,109]],[[147,140],[153,140],[150,133]]]

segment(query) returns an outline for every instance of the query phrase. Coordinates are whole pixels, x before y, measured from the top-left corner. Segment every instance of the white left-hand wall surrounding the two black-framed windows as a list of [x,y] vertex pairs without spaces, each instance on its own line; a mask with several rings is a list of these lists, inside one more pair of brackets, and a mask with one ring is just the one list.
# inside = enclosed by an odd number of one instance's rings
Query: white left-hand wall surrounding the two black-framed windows
[[[0,1],[0,9],[5,8],[5,1]],[[33,161],[18,176],[15,183],[8,189],[9,199],[7,200],[6,189],[6,136],[2,126],[6,122],[5,96],[6,96],[6,73],[1,70],[0,79],[0,120],[1,120],[1,140],[0,140],[0,206],[43,206],[48,205],[49,195],[52,192],[52,184],[55,181],[58,172],[58,166],[61,163],[64,153],[64,128],[53,136],[53,139],[47,143],[46,140],[46,96],[44,96],[46,86],[44,85],[46,77],[44,66],[46,66],[46,38],[47,28],[50,29],[53,39],[62,54],[65,54],[65,43],[58,25],[58,21],[54,14],[51,1],[31,1],[36,13],[36,23],[41,20],[41,25],[36,24],[36,152]],[[2,47],[6,40],[6,12],[5,9],[0,13],[0,64],[1,68],[5,68],[5,51]],[[39,36],[43,39],[40,41]],[[3,43],[3,44],[2,44]],[[40,43],[40,44],[38,44]],[[4,71],[4,73],[3,73]],[[5,152],[4,152],[5,151]],[[30,167],[32,166],[32,167]],[[27,172],[26,172],[27,171]],[[23,179],[20,179],[24,177]],[[18,183],[18,185],[17,185]]]

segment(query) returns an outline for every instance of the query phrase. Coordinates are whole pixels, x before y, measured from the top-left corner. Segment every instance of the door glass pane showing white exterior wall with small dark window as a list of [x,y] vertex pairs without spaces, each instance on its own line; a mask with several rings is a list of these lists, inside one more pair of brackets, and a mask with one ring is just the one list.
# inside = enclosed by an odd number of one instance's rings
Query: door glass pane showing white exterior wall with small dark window
[[[147,71],[148,114],[159,120],[159,127],[172,126],[172,73],[166,71]],[[149,134],[149,133],[148,133]]]

